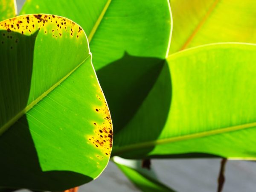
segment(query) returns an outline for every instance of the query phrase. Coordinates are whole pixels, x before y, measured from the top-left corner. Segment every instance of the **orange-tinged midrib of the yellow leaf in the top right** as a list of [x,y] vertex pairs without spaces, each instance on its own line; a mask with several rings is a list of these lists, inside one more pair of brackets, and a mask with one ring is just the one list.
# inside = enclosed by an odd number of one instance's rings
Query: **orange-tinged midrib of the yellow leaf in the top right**
[[217,4],[219,3],[220,0],[215,0],[212,4],[212,6],[208,9],[207,13],[204,15],[203,19],[198,23],[198,25],[196,26],[196,28],[194,29],[194,31],[192,32],[192,34],[189,36],[189,38],[186,40],[186,42],[183,44],[183,46],[180,48],[180,51],[183,49],[186,49],[190,42],[193,40],[193,38],[195,38],[195,35],[198,33],[199,29],[201,29],[201,27],[203,26],[203,24],[205,23],[205,21],[209,18],[209,16],[211,15],[211,13],[213,12],[213,10],[215,9],[215,7],[217,6]]

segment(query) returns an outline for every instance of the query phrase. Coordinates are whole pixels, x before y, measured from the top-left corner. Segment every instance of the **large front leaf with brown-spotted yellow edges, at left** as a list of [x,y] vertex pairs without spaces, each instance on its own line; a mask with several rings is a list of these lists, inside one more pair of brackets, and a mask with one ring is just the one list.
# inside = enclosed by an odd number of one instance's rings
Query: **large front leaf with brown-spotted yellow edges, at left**
[[112,125],[79,25],[55,15],[0,22],[0,186],[57,191],[108,163]]

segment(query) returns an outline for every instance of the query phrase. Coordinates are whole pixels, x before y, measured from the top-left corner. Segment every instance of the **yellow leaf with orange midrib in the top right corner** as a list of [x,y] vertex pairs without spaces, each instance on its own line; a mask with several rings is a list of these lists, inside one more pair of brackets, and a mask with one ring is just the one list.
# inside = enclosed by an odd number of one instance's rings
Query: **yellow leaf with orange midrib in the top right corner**
[[170,54],[218,42],[256,43],[256,2],[251,0],[170,0],[173,33]]

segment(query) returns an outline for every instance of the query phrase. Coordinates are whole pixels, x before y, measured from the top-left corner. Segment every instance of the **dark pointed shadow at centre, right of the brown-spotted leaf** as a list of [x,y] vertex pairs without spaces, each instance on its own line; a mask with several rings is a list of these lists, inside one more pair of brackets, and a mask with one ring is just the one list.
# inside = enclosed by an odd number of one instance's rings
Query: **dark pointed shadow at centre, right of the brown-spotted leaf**
[[[125,53],[96,73],[111,111],[113,155],[118,147],[157,139],[172,98],[169,67],[165,61]],[[151,149],[132,154],[136,158],[144,157]],[[127,153],[122,155],[132,157]]]

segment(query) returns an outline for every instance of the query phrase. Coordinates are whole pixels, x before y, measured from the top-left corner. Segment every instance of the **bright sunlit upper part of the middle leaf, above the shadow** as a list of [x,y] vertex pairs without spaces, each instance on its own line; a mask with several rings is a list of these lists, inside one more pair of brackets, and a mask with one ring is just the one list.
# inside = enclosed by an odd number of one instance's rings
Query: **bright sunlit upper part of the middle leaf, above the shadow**
[[168,53],[168,0],[27,0],[20,13],[41,12],[64,16],[81,25],[89,34],[96,71],[121,59],[125,52],[156,58],[165,58]]

